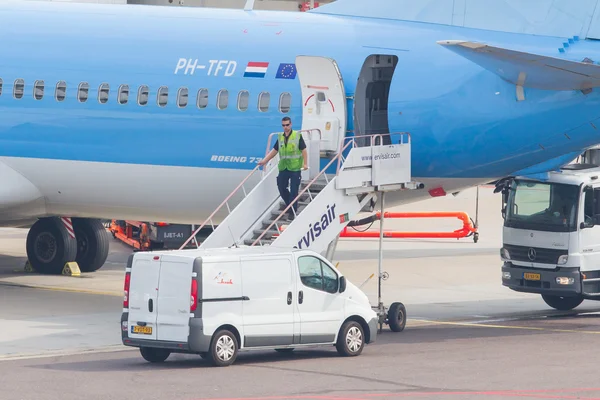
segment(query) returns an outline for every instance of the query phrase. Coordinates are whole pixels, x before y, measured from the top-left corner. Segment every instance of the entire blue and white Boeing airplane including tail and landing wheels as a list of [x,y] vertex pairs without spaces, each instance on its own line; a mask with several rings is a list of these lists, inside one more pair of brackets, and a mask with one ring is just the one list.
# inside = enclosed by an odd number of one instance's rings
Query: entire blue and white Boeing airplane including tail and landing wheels
[[597,2],[3,1],[0,224],[40,272],[96,271],[101,219],[204,222],[284,116],[332,152],[409,132],[425,189],[390,207],[557,168],[600,142]]

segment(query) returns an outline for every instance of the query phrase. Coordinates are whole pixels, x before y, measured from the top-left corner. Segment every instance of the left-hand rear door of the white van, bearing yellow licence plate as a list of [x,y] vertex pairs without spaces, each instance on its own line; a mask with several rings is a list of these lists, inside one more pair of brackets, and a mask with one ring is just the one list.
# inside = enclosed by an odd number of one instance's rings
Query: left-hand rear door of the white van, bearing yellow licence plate
[[131,265],[128,332],[132,339],[156,339],[156,297],[160,262],[138,253]]

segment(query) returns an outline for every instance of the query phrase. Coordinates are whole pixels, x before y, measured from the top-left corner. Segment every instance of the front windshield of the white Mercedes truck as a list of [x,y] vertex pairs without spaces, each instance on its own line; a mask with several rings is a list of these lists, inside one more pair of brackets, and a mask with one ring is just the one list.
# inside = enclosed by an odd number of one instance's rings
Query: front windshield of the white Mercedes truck
[[579,186],[515,180],[504,226],[551,232],[577,229]]

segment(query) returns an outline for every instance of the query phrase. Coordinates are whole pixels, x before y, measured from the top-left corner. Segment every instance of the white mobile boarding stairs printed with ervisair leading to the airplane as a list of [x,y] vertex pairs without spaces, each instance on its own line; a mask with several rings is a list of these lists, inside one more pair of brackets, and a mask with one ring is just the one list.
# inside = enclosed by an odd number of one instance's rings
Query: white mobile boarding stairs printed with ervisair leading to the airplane
[[[418,189],[421,184],[411,179],[410,134],[376,134],[346,137],[336,154],[322,152],[318,129],[299,131],[308,152],[308,170],[302,172],[298,210],[293,220],[286,217],[286,206],[277,189],[278,156],[262,171],[260,181],[246,190],[260,172],[254,168],[235,190],[217,207],[192,236],[183,249],[205,226],[213,232],[199,248],[232,246],[296,247],[318,253],[330,243],[361,210],[377,200],[379,192]],[[270,150],[269,136],[267,153]],[[387,140],[385,140],[387,139]],[[385,142],[389,144],[385,144]],[[324,166],[323,166],[324,164]],[[234,196],[242,200],[232,209]],[[227,209],[227,215],[215,228],[213,220]]]

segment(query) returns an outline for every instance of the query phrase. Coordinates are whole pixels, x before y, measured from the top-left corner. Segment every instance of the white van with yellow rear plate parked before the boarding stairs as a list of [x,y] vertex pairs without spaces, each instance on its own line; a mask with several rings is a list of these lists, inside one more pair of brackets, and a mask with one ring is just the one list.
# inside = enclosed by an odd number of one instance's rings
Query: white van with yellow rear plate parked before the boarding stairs
[[127,264],[123,344],[150,362],[195,353],[227,366],[239,350],[322,345],[357,356],[377,322],[367,296],[311,250],[138,252]]

